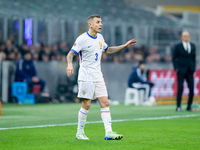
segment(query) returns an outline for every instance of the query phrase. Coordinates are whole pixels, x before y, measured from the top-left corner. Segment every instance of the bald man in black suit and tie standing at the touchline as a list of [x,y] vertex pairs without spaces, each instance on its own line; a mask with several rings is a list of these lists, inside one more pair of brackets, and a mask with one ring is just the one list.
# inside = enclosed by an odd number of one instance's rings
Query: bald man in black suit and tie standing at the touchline
[[183,83],[184,79],[188,84],[189,88],[189,98],[187,104],[187,111],[191,111],[191,105],[194,96],[194,72],[196,63],[196,48],[193,43],[190,42],[190,34],[188,32],[183,32],[181,36],[182,42],[175,45],[173,51],[173,66],[177,73],[178,80],[178,92],[177,92],[177,108],[176,111],[182,111],[181,109],[181,99],[183,93]]

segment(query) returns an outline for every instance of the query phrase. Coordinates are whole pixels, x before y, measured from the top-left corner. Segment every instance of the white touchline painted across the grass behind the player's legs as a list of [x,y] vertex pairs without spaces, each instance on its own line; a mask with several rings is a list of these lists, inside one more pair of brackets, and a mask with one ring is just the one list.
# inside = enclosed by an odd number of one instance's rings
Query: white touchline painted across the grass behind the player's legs
[[[197,117],[197,116],[200,116],[200,114],[163,116],[163,117],[149,117],[149,118],[134,118],[134,119],[117,119],[117,120],[112,120],[112,122],[144,121],[144,120],[165,120],[165,119],[188,118],[188,117]],[[102,123],[102,121],[89,121],[89,122],[87,122],[87,124],[93,124],[93,123]],[[65,124],[48,124],[48,125],[36,125],[36,126],[21,126],[21,127],[0,128],[0,130],[30,129],[30,128],[43,128],[43,127],[56,127],[56,126],[70,126],[70,125],[77,125],[77,124],[78,123],[65,123]]]

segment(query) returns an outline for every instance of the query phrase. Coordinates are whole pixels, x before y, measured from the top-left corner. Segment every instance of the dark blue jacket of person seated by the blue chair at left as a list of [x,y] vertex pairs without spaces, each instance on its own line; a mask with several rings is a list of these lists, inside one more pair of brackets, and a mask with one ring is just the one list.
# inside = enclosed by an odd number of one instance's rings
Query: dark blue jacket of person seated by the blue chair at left
[[32,77],[37,76],[32,60],[26,61],[23,57],[17,63],[15,81],[32,82]]

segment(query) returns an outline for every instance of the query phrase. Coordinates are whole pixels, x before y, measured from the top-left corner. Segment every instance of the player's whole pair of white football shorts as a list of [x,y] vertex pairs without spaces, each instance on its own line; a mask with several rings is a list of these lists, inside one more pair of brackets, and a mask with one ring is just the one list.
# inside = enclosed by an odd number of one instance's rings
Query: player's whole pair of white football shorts
[[95,99],[108,96],[104,81],[78,81],[78,98]]

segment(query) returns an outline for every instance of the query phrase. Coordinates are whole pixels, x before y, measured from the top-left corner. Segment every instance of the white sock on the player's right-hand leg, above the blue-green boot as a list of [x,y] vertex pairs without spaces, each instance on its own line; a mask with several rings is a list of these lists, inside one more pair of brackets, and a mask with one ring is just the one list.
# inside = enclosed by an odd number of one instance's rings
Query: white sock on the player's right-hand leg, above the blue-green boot
[[112,132],[111,116],[110,116],[110,109],[109,109],[109,107],[101,108],[101,118],[102,118],[103,123],[104,123],[106,134],[108,132]]

